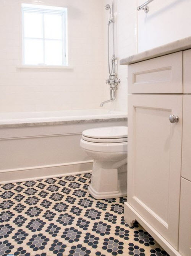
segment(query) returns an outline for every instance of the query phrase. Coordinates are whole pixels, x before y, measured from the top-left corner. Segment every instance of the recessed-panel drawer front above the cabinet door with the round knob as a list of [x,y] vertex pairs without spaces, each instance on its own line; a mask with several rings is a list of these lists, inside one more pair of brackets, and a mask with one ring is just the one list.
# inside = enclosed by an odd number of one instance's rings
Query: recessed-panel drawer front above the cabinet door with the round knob
[[183,93],[183,52],[128,66],[128,93]]

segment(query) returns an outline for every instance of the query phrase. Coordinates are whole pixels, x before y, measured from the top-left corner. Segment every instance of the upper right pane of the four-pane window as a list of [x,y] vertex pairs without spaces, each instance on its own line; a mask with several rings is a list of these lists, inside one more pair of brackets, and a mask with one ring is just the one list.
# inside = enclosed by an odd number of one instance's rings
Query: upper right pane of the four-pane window
[[62,15],[44,15],[44,34],[45,38],[62,39]]

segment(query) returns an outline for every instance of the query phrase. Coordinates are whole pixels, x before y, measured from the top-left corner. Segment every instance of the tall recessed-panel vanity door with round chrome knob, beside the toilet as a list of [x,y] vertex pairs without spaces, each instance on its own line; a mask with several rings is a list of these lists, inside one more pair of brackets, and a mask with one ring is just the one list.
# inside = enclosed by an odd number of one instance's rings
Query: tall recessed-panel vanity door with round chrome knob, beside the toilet
[[[178,249],[182,95],[128,96],[128,204]],[[170,115],[179,122],[170,123]]]

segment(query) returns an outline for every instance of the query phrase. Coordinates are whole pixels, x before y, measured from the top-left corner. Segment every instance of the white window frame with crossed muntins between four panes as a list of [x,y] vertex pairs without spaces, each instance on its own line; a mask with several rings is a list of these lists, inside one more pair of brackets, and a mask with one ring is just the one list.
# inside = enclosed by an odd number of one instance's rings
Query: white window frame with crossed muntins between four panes
[[[24,13],[40,13],[42,14],[43,34],[42,38],[29,38],[24,35]],[[62,64],[60,66],[68,66],[68,8],[46,5],[21,4],[22,15],[22,65],[41,66],[58,66],[57,64],[45,64],[45,40],[61,41],[62,42]],[[45,38],[44,15],[53,14],[62,16],[62,39]],[[25,39],[41,39],[43,41],[43,60],[42,64],[26,64],[25,63]]]

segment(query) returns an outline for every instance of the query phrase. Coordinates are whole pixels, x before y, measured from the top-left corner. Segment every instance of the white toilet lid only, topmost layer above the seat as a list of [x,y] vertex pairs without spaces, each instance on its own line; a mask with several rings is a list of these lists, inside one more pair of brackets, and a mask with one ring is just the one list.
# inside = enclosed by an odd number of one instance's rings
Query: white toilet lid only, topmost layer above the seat
[[82,134],[95,139],[127,139],[127,130],[127,126],[111,126],[84,130]]

